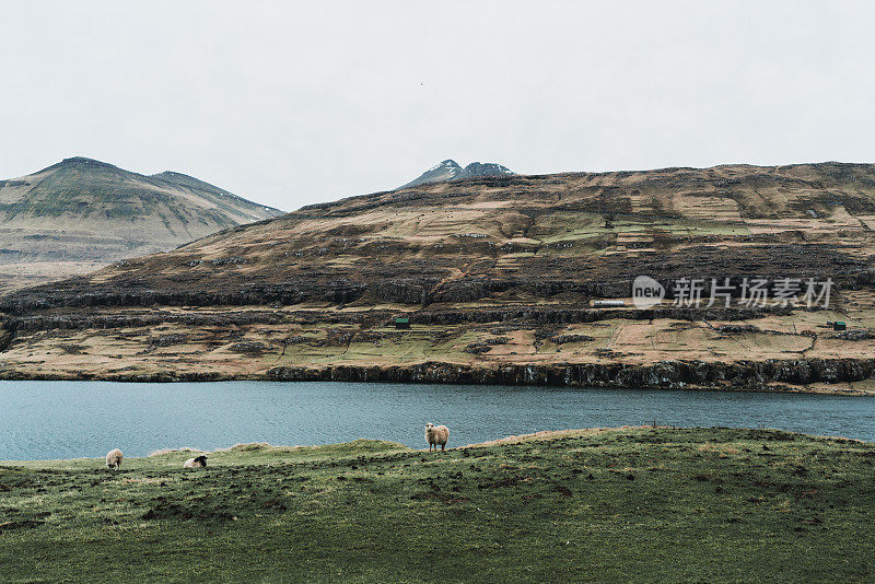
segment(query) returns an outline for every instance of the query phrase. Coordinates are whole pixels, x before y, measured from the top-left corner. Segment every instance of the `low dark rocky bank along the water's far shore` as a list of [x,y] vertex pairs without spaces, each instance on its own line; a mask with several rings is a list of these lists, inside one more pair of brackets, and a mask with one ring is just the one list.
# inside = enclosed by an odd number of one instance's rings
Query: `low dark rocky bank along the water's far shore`
[[[0,371],[0,381],[92,381],[121,383],[345,382],[446,385],[508,385],[581,388],[686,389],[875,397],[850,384],[875,379],[875,359],[658,361],[651,364],[557,363],[477,367],[427,361],[411,365],[281,365],[242,375],[206,371],[92,374]],[[820,384],[820,385],[815,385]],[[835,384],[835,387],[833,387]],[[825,385],[827,387],[825,387]]]

